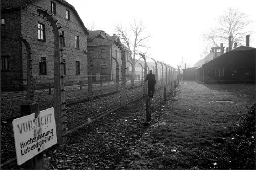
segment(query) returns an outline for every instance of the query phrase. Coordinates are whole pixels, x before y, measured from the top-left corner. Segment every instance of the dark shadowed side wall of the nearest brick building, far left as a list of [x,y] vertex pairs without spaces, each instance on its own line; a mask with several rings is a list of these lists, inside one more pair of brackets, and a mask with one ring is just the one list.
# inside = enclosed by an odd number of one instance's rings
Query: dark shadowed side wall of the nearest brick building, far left
[[1,69],[1,90],[23,90],[22,43],[17,39],[21,35],[20,10],[1,10],[1,18],[5,20],[1,36],[1,57],[9,58],[9,69]]

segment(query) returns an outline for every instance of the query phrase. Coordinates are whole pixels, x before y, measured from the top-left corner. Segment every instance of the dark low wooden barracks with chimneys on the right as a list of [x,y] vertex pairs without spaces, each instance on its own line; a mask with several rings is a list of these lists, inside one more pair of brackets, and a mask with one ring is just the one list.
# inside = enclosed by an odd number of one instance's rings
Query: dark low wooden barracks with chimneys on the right
[[[230,44],[230,43],[229,43]],[[231,49],[231,45],[229,45]],[[184,79],[196,79],[203,83],[255,83],[255,48],[249,47],[249,35],[246,46],[236,47],[223,53],[199,67],[183,69]]]

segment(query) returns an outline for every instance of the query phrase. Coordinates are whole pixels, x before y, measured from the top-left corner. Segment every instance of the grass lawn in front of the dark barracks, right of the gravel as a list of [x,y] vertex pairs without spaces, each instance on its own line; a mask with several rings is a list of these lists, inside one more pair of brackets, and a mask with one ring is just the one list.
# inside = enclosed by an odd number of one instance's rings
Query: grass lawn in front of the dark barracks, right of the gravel
[[[255,84],[180,84],[176,98],[166,103],[163,123],[150,133],[152,143],[167,150],[155,159],[160,169],[231,168],[235,159],[228,156],[229,143],[247,107],[255,103]],[[232,102],[215,102],[221,100]]]

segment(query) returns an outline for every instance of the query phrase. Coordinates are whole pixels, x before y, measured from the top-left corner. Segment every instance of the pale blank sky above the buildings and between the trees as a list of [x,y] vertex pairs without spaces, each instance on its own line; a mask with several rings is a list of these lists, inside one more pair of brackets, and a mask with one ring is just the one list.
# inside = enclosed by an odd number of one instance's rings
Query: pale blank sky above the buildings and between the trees
[[[215,18],[228,7],[239,9],[249,16],[256,30],[255,0],[66,0],[75,7],[85,26],[94,22],[94,30],[112,35],[115,25],[129,27],[133,17],[142,20],[151,35],[148,53],[173,67],[193,67],[201,59],[203,32],[215,26]],[[224,46],[225,43],[223,42]],[[245,42],[244,42],[245,45]],[[250,46],[256,47],[256,35],[250,34]]]

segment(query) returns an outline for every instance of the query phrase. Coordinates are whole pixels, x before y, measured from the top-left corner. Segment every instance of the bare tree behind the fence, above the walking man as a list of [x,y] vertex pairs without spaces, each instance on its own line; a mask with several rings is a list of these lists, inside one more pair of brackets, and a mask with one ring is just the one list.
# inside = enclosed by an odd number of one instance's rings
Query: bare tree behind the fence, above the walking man
[[[138,60],[135,59],[135,56],[139,53],[145,54],[148,52],[147,40],[150,37],[149,34],[145,35],[146,26],[144,26],[143,22],[136,21],[134,18],[133,23],[130,24],[130,32],[127,31],[127,28],[124,28],[122,23],[119,23],[116,27],[116,31],[120,36],[122,42],[132,51],[131,55],[129,56],[131,60],[132,66],[132,82],[133,82],[133,75],[135,73],[135,64]],[[144,53],[142,52],[144,51]],[[146,52],[145,52],[146,51]]]

